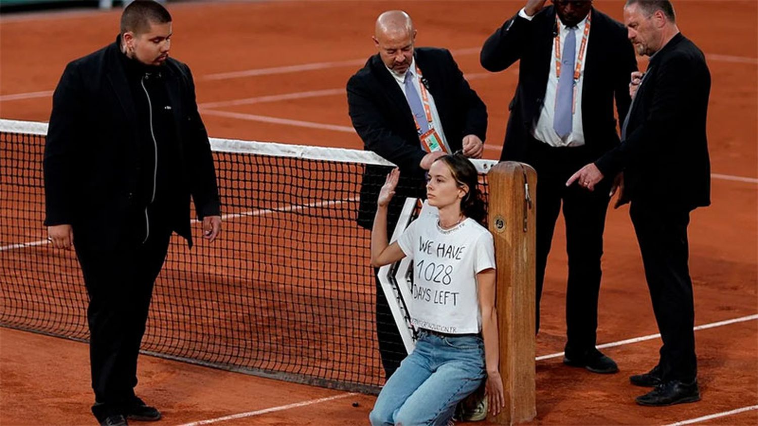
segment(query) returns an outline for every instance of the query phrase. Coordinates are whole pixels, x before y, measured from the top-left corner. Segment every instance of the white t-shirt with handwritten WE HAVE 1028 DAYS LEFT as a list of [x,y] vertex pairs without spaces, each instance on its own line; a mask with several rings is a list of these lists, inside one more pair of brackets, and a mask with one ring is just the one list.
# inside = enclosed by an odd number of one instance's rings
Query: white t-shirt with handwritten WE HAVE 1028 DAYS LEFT
[[449,334],[478,333],[476,275],[495,268],[492,234],[474,219],[452,229],[440,228],[438,219],[437,209],[422,213],[397,240],[413,260],[411,323]]

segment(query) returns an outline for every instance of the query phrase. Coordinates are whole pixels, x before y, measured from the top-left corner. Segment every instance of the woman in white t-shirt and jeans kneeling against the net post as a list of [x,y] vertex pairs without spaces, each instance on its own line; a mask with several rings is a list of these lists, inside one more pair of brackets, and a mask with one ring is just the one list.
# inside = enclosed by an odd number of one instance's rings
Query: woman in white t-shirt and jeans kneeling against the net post
[[387,175],[371,232],[371,265],[411,257],[411,322],[420,329],[415,350],[379,393],[371,424],[448,424],[456,405],[486,379],[490,412],[505,406],[498,370],[495,257],[484,220],[478,173],[462,155],[446,155],[429,169],[428,204],[398,241],[387,244],[387,205],[399,170]]

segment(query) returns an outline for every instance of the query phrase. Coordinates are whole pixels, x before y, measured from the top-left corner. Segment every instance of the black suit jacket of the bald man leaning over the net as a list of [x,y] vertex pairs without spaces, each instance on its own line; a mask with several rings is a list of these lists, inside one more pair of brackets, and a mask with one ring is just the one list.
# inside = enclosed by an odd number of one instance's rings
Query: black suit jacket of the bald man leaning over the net
[[[465,135],[487,134],[487,107],[468,86],[453,55],[442,48],[416,48],[415,61],[434,97],[450,149],[462,148]],[[427,153],[421,149],[411,108],[396,80],[375,54],[347,82],[347,102],[352,126],[364,148],[374,151],[400,168],[400,182],[393,201],[424,197],[425,175],[419,163]],[[359,225],[371,229],[376,198],[387,169],[367,166],[363,175]]]

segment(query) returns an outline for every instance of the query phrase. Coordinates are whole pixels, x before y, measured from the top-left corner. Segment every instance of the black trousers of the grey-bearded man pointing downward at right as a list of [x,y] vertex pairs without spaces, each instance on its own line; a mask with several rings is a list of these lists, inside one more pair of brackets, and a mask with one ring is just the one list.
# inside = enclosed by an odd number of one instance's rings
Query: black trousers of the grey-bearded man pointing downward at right
[[688,267],[690,210],[632,201],[629,215],[663,340],[659,360],[662,377],[689,383],[697,377],[695,313]]

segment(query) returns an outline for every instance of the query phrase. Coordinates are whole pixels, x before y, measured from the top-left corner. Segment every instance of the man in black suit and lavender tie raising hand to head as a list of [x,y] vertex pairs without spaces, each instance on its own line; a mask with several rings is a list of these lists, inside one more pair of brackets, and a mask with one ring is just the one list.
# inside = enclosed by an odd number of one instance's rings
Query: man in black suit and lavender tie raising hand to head
[[501,160],[523,161],[537,170],[536,287],[540,328],[547,256],[561,204],[565,217],[568,281],[567,365],[614,373],[615,362],[596,349],[600,258],[609,192],[566,188],[568,176],[619,143],[613,101],[624,117],[628,82],[637,69],[634,49],[621,23],[589,0],[529,0],[496,30],[481,50],[481,64],[502,71],[520,61],[518,87]]

